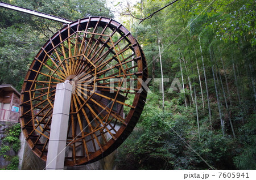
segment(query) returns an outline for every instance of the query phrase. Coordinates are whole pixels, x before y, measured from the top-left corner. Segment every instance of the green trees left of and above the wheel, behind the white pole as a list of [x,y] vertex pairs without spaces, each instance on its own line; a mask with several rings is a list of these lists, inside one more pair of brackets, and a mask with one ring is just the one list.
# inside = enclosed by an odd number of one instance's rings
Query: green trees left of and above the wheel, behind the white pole
[[[108,16],[112,12],[103,0],[5,0],[11,5],[77,20],[87,16]],[[13,84],[20,91],[36,53],[63,24],[22,12],[0,8],[0,84]]]

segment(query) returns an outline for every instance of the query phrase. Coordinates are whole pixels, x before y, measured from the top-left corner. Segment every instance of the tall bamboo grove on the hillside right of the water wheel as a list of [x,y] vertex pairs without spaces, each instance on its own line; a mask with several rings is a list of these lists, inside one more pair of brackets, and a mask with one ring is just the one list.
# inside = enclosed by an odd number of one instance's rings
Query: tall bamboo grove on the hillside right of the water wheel
[[[159,84],[150,83],[155,91],[141,118],[142,136],[150,135],[145,128],[154,129],[152,121],[158,119],[170,126],[159,127],[166,129],[166,134],[179,131],[181,137],[175,144],[159,132],[161,135],[154,135],[156,143],[148,145],[161,148],[151,153],[141,144],[144,140],[134,135],[139,145],[123,148],[139,158],[140,163],[134,162],[136,168],[255,169],[255,2],[178,1],[141,22],[168,3],[171,1],[141,1],[128,6],[123,15],[143,44],[151,78],[170,79],[164,82],[163,92],[158,91]],[[168,93],[174,78],[179,78],[185,91]],[[180,123],[187,126],[180,127]],[[206,162],[196,157],[181,138]],[[168,149],[164,144],[174,147]],[[141,151],[142,147],[148,151]],[[147,165],[156,159],[159,164]]]

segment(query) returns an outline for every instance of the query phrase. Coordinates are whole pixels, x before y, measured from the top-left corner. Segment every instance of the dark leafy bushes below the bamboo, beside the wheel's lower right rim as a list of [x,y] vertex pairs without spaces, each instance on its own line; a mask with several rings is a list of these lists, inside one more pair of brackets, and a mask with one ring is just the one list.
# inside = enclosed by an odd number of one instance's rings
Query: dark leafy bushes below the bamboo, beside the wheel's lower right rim
[[184,153],[185,144],[177,136],[187,137],[188,119],[182,115],[174,117],[170,113],[152,113],[154,115],[143,119],[118,148],[119,168],[191,169],[190,164],[197,160]]

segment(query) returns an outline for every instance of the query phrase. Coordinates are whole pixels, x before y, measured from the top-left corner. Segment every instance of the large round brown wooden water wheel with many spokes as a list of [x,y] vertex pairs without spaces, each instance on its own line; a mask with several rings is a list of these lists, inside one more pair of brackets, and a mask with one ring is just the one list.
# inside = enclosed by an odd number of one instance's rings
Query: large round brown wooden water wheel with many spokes
[[129,136],[147,92],[146,60],[131,33],[115,20],[80,19],[40,49],[21,95],[21,125],[32,151],[47,159],[56,84],[72,85],[65,165],[109,155]]

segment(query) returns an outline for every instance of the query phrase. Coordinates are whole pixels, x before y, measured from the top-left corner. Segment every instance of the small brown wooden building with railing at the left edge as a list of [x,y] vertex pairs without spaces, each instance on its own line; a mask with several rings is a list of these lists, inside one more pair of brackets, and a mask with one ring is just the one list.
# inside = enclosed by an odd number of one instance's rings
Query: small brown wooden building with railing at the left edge
[[19,122],[20,93],[11,84],[0,85],[0,121]]

